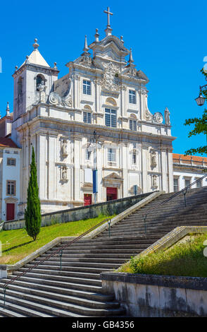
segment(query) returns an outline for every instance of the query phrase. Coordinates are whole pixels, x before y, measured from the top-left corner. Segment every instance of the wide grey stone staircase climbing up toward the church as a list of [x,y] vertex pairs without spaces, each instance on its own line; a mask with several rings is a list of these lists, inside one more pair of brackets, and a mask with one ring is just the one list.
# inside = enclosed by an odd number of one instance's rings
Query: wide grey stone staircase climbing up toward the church
[[159,196],[113,225],[110,238],[106,230],[94,239],[82,239],[64,249],[61,271],[60,257],[56,254],[15,280],[6,290],[5,308],[4,283],[41,262],[64,243],[46,251],[7,279],[1,279],[0,316],[123,316],[125,311],[113,295],[102,292],[99,274],[118,268],[177,226],[207,224],[207,187],[204,187],[187,192],[187,207],[181,194],[149,214],[145,234],[144,213],[171,195]]

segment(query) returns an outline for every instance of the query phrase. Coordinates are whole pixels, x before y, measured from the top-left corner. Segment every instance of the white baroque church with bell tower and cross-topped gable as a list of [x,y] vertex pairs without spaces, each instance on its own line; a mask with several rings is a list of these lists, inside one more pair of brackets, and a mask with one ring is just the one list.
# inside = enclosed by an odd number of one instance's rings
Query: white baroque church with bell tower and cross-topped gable
[[[87,45],[68,73],[34,50],[15,67],[11,139],[20,148],[15,218],[27,203],[35,148],[42,213],[154,190],[173,191],[170,113],[152,114],[149,79],[137,70],[132,49],[115,37],[108,14],[106,37]],[[96,195],[93,170],[97,171]],[[94,201],[95,199],[95,201]]]

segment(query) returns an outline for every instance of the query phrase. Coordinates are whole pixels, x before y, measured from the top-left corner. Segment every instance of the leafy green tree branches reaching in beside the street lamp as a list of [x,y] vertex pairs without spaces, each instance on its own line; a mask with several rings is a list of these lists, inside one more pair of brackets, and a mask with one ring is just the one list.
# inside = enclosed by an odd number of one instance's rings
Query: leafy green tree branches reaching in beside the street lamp
[[[207,73],[201,70],[204,76],[207,78]],[[203,90],[203,97],[207,100],[207,90]],[[204,109],[203,114],[201,117],[194,117],[193,119],[187,119],[185,120],[184,126],[188,126],[194,124],[194,129],[189,131],[188,137],[192,137],[199,134],[205,134],[206,135],[206,141],[207,141],[207,109]],[[207,154],[207,145],[206,146],[199,146],[199,148],[190,148],[189,150],[185,151],[185,155],[195,155],[196,153],[203,153]]]

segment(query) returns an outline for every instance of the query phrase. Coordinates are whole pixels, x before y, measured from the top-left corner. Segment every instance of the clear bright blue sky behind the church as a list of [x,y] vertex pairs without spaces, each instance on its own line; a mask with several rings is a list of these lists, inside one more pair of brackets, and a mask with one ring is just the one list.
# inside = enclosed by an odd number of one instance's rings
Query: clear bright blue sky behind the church
[[5,114],[6,102],[13,109],[13,78],[32,52],[35,37],[46,61],[57,62],[61,71],[82,52],[84,35],[94,41],[95,29],[104,37],[106,14],[113,12],[113,35],[123,35],[125,47],[132,47],[134,64],[149,77],[149,109],[170,110],[175,153],[206,143],[204,136],[187,138],[189,117],[199,117],[203,107],[194,100],[199,85],[206,84],[200,69],[207,55],[207,1],[4,1],[1,3],[2,73],[0,73],[0,111]]

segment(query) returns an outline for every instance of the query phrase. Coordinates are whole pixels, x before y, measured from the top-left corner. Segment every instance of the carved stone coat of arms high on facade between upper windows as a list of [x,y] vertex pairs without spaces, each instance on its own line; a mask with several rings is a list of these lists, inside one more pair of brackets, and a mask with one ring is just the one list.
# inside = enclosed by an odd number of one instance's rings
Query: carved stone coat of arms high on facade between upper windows
[[102,75],[102,87],[106,90],[120,90],[120,81],[116,74],[120,73],[118,66],[110,62],[102,63],[104,71]]

